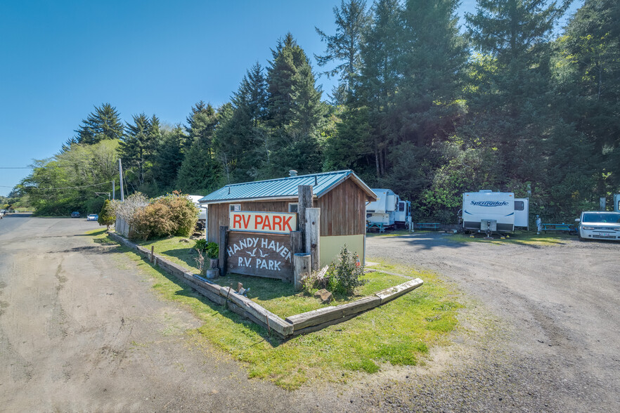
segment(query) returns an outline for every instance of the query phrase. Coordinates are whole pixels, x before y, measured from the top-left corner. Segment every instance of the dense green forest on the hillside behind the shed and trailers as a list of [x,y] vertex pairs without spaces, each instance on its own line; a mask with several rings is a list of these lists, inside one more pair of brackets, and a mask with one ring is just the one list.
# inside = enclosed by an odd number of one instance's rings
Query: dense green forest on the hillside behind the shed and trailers
[[122,159],[127,194],[352,169],[414,221],[456,223],[461,194],[482,189],[571,221],[620,190],[620,2],[586,0],[559,27],[569,3],[478,0],[461,26],[457,0],[342,0],[335,32],[316,28],[321,55],[283,34],[228,103],[178,124],[94,106],[5,201],[96,213]]

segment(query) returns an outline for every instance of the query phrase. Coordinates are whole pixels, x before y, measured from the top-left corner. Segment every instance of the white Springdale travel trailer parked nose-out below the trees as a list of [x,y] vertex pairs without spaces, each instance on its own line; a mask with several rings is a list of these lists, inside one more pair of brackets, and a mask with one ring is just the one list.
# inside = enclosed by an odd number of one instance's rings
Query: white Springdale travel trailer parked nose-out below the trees
[[512,232],[529,227],[529,199],[515,198],[512,192],[465,192],[463,194],[465,232]]

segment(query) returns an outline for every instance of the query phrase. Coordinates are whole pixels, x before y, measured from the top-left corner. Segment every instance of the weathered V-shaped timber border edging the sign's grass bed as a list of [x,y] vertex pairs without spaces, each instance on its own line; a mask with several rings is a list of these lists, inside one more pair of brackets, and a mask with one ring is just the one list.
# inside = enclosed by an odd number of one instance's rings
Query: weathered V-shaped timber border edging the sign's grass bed
[[235,290],[230,287],[221,287],[199,275],[195,275],[181,265],[175,264],[161,256],[157,256],[149,249],[136,245],[115,232],[108,232],[108,235],[112,240],[137,251],[141,256],[145,256],[151,263],[164,269],[167,273],[175,275],[181,280],[185,280],[193,289],[210,301],[221,306],[226,306],[228,310],[266,328],[267,331],[270,333],[273,332],[276,336],[279,336],[280,339],[288,339],[291,336],[316,332],[330,325],[350,320],[356,315],[360,315],[371,308],[375,308],[403,294],[407,294],[409,291],[413,291],[423,284],[420,278],[415,278],[403,282],[403,284],[382,289],[372,296],[367,296],[351,303],[319,308],[318,310],[308,311],[307,313],[291,315],[287,317],[286,320],[283,320],[278,317],[278,315],[271,313],[266,310],[266,308],[254,303],[254,301],[247,297],[236,294]]

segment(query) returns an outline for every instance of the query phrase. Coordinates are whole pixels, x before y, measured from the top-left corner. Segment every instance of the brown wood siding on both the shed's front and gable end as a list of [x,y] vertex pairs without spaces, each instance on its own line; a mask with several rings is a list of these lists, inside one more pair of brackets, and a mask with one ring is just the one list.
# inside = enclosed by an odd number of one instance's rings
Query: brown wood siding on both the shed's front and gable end
[[[286,201],[231,202],[241,204],[241,211],[288,212]],[[366,233],[366,194],[353,181],[347,179],[319,199],[314,207],[321,208],[321,237],[361,235]],[[219,242],[220,225],[228,225],[230,204],[210,204],[207,239]]]

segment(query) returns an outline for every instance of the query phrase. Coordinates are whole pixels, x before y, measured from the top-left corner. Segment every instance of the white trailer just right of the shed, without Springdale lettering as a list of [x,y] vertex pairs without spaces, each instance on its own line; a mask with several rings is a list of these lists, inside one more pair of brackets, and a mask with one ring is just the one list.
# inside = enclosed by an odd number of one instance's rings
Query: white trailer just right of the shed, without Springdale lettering
[[366,221],[369,225],[383,228],[410,228],[411,202],[403,201],[389,189],[373,189],[377,194],[375,202],[366,205]]

